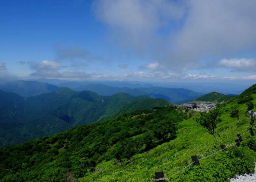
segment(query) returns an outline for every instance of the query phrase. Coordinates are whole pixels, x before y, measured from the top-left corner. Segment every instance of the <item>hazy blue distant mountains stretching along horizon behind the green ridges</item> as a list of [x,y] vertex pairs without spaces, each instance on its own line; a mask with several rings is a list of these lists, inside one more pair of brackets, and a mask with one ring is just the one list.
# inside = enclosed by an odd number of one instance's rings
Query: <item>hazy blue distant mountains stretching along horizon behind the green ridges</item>
[[[110,82],[111,83],[111,82]],[[108,84],[108,82],[106,83]],[[116,85],[116,84],[112,84]],[[125,86],[125,87],[122,87]],[[163,98],[174,104],[181,104],[184,101],[190,102],[195,98],[202,96],[201,92],[194,92],[183,88],[165,88],[154,87],[150,84],[129,84],[123,83],[120,86],[104,85],[101,82],[96,83],[76,83],[65,82],[58,86],[42,83],[38,81],[17,80],[6,82],[0,85],[0,89],[13,92],[23,97],[37,96],[43,93],[50,93],[56,91],[59,87],[68,87],[75,91],[92,91],[99,95],[111,96],[116,93],[128,93],[132,96],[147,95],[151,98]]]

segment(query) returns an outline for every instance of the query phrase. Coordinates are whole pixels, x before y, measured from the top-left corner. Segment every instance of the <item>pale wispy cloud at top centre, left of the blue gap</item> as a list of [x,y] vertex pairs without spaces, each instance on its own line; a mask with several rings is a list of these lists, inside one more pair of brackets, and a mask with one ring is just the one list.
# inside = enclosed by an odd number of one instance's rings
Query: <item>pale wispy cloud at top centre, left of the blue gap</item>
[[159,44],[157,31],[184,15],[179,3],[168,0],[96,0],[93,10],[110,28],[113,42],[137,52]]

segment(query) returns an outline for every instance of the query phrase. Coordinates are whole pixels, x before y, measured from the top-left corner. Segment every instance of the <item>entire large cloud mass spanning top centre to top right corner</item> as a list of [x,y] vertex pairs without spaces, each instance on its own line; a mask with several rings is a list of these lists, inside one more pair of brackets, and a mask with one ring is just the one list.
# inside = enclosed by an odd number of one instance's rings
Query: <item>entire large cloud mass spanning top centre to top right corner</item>
[[110,40],[143,51],[165,69],[183,71],[200,68],[204,59],[253,50],[255,9],[254,0],[96,0],[93,5],[110,27]]

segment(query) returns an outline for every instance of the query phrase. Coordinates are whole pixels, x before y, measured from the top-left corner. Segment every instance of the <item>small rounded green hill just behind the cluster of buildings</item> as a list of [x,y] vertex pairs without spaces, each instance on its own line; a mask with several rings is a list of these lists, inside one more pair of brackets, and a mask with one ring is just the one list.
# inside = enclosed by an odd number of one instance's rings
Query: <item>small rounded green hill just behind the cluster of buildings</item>
[[205,102],[216,102],[216,103],[221,103],[223,101],[228,101],[231,99],[233,96],[229,95],[224,95],[222,93],[218,92],[211,92],[208,94],[205,94],[201,97],[198,97],[195,99],[195,101],[205,101]]

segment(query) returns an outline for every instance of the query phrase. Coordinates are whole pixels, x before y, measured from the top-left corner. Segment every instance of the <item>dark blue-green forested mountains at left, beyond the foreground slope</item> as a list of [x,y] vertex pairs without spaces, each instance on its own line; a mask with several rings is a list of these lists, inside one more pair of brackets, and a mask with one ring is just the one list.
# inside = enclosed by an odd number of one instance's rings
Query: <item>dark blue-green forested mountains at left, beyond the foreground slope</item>
[[[75,92],[69,88],[28,98],[0,91],[0,146],[99,122],[102,121],[101,117],[111,118],[120,107],[145,98],[149,97],[134,97],[125,93],[101,96],[90,91]],[[143,102],[149,109],[169,105],[168,101],[156,105],[154,99]],[[134,107],[136,110],[144,109],[143,105]]]

